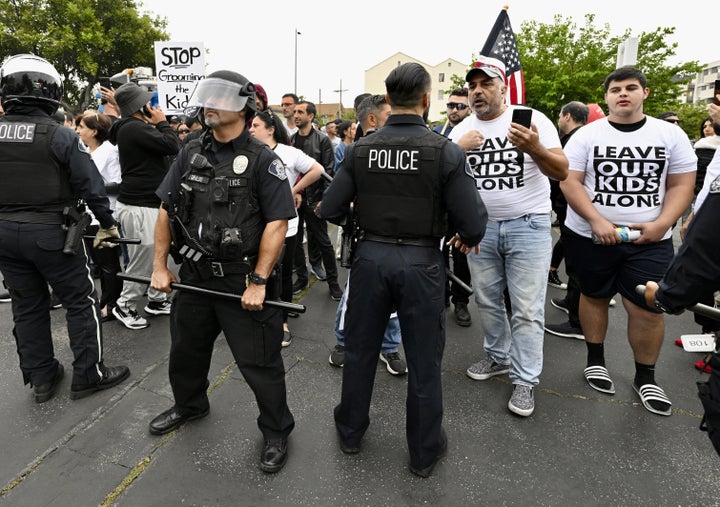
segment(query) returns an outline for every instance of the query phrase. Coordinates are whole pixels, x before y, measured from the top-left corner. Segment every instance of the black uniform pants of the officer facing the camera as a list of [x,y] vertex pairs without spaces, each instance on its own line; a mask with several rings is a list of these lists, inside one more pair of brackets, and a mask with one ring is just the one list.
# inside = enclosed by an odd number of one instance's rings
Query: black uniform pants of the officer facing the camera
[[[241,293],[242,275],[198,283],[183,266],[183,283],[224,292]],[[180,291],[170,314],[169,375],[175,405],[183,414],[209,408],[208,371],[213,345],[220,332],[257,400],[258,427],[266,438],[284,438],[295,421],[287,405],[282,355],[282,311],[265,307],[260,312],[243,310],[239,301]]]

